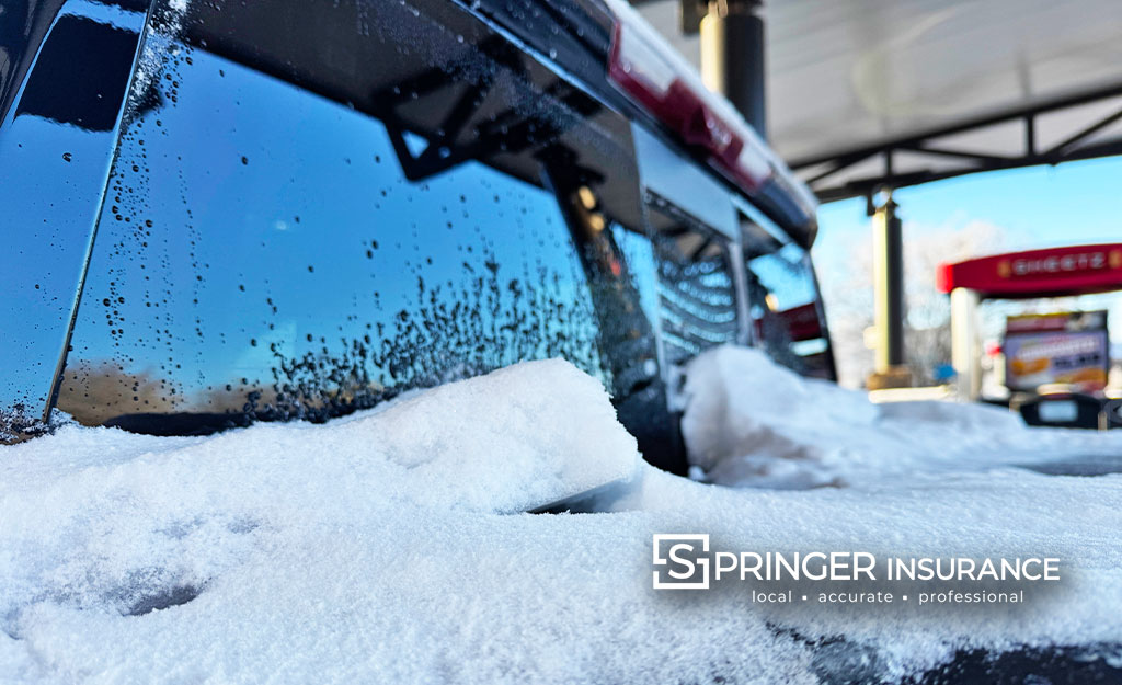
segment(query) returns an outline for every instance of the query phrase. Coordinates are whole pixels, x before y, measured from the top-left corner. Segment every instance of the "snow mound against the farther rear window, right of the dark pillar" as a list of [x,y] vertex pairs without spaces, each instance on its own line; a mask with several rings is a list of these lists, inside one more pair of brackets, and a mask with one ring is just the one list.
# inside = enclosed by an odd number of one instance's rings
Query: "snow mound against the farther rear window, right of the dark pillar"
[[1122,459],[1116,433],[1030,428],[996,407],[873,404],[863,392],[802,378],[754,349],[711,350],[687,377],[682,428],[691,460],[706,481],[723,485],[883,486],[1072,455]]

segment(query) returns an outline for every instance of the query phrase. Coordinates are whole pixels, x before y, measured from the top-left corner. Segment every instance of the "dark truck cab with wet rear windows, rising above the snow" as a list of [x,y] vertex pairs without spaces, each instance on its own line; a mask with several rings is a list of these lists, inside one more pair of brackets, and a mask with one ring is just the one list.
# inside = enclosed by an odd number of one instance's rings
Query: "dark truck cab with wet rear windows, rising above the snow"
[[813,197],[620,2],[17,0],[0,57],[8,440],[564,357],[682,472],[698,353],[835,376]]

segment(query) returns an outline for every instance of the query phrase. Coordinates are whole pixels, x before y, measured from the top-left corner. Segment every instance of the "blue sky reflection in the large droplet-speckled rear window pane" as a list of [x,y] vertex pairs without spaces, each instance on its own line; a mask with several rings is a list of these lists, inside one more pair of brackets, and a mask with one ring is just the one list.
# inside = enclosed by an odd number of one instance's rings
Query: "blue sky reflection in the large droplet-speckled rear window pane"
[[[477,163],[407,182],[376,120],[186,55],[192,65],[165,70],[177,104],[148,112],[122,140],[123,190],[111,184],[120,201],[102,216],[80,358],[159,366],[181,383],[267,382],[270,344],[286,357],[335,351],[376,336],[369,322],[415,309],[422,286],[447,292],[450,280],[487,276],[491,258],[504,286],[561,265],[555,294],[588,300],[544,191]],[[159,82],[168,94],[171,81]]]

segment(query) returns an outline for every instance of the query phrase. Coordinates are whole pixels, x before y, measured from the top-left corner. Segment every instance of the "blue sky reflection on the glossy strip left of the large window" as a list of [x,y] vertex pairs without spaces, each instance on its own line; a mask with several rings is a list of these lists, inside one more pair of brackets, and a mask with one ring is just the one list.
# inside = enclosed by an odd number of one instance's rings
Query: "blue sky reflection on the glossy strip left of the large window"
[[[88,0],[70,0],[55,21],[67,16],[129,31],[144,21],[141,12]],[[0,323],[0,408],[22,402],[38,412],[62,353],[112,134],[16,116],[18,101],[0,127],[0,321],[19,322]]]

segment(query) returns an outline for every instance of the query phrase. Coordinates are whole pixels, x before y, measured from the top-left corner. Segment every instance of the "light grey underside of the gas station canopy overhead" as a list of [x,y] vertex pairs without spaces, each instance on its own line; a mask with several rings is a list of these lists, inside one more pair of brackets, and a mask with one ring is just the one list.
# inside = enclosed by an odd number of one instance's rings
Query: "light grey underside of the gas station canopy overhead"
[[[635,4],[698,63],[681,0]],[[824,201],[1122,154],[1119,0],[765,0],[760,11],[770,143]]]

